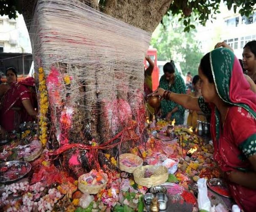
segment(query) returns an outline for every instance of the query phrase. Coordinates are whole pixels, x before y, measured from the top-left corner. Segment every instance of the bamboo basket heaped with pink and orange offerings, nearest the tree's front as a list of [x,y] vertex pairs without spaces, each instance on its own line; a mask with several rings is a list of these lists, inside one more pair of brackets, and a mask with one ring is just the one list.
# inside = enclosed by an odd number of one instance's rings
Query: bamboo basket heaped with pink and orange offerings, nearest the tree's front
[[106,183],[108,182],[108,176],[105,174],[102,175],[103,179],[105,180],[105,183],[101,185],[85,185],[82,182],[82,179],[85,176],[88,176],[90,173],[83,174],[78,178],[78,189],[83,192],[84,194],[98,194],[101,189],[104,189],[106,187]]

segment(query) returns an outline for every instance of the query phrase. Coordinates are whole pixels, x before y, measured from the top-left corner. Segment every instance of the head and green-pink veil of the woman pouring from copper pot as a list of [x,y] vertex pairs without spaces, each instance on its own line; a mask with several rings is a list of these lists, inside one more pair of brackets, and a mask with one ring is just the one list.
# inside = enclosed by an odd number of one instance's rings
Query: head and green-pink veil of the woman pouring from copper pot
[[[203,56],[199,76],[202,81],[202,96],[213,102],[220,97],[224,102],[256,111],[256,95],[246,81],[239,60],[227,48],[217,48]],[[245,106],[247,105],[247,106]]]

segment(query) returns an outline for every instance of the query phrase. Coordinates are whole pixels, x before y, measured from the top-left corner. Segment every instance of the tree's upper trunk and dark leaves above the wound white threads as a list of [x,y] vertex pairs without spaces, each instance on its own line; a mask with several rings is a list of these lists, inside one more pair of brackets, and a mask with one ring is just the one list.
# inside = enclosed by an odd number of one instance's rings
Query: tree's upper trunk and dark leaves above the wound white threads
[[[184,31],[189,31],[195,26],[190,24],[191,15],[205,26],[208,19],[219,12],[221,0],[80,0],[85,4],[100,10],[107,15],[115,17],[132,26],[153,32],[158,23],[163,22],[162,17],[167,14],[181,15]],[[0,15],[16,18],[16,12],[23,14],[27,27],[34,12],[37,0],[0,0]],[[240,7],[241,16],[249,16],[255,9],[255,0],[223,0],[228,10],[234,12]],[[171,13],[170,13],[171,12]]]

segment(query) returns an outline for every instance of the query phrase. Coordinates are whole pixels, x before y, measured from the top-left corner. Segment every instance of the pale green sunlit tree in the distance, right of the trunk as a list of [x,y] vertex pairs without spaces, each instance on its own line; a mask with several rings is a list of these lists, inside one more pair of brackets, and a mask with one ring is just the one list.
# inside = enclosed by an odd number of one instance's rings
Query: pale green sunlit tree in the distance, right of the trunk
[[[183,74],[190,71],[192,75],[198,72],[198,65],[203,53],[200,50],[200,42],[195,40],[196,30],[184,32],[184,26],[179,21],[179,16],[168,14],[163,17],[152,35],[151,45],[157,49],[158,60],[179,62]],[[197,23],[193,16],[190,17],[190,25]]]

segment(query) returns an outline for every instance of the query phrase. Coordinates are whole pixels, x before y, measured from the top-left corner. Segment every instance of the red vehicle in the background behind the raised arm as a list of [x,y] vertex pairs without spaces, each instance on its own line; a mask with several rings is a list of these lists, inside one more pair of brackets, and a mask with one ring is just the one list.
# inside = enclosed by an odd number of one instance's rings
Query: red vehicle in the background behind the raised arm
[[[157,49],[149,48],[147,50],[147,55],[150,56],[151,60],[153,60],[155,64],[152,72],[152,90],[155,91],[159,85],[159,69],[157,66]],[[144,60],[144,65],[145,65],[145,68],[147,68],[149,65],[146,60]]]

